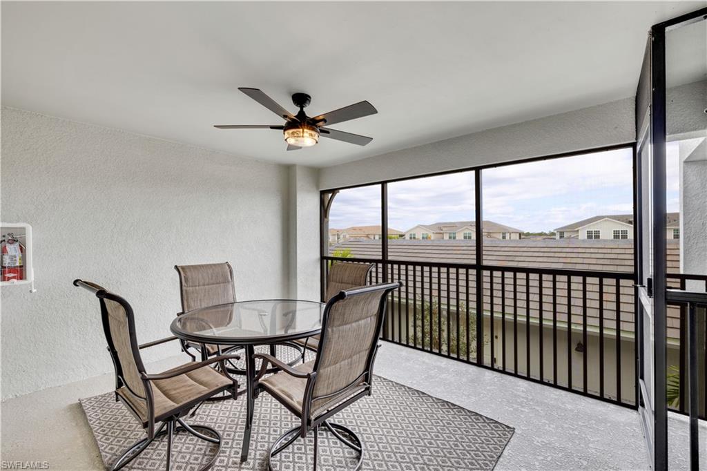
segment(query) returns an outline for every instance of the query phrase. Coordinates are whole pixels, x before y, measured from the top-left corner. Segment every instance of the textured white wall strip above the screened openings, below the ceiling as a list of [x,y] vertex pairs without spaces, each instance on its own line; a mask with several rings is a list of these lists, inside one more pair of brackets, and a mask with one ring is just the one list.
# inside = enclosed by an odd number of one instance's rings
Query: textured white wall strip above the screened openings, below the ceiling
[[634,99],[467,134],[320,170],[322,190],[636,140]]

